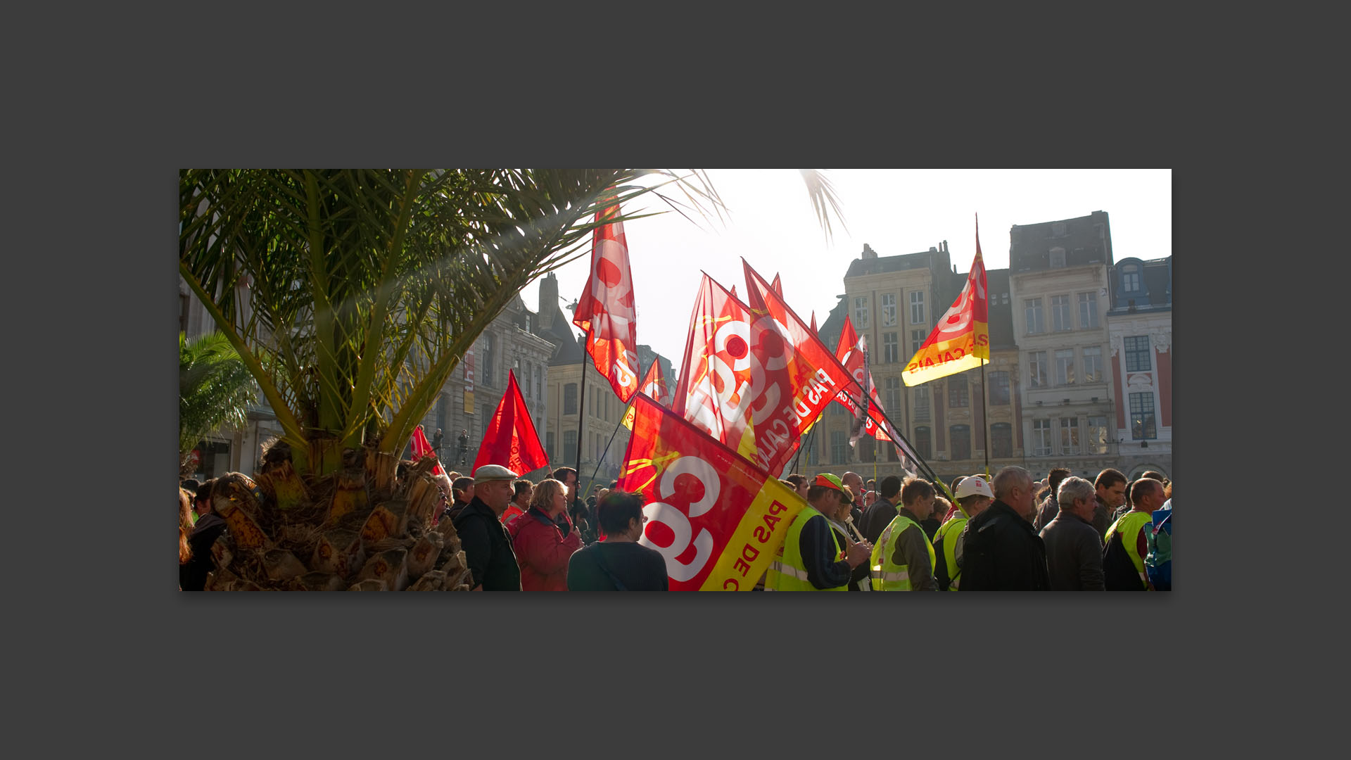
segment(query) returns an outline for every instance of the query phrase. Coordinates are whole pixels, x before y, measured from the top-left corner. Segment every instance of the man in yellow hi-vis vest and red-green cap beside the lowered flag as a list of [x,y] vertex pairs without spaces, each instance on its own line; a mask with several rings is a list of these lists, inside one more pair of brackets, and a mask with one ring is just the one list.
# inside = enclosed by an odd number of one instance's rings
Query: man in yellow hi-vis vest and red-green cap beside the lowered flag
[[846,538],[840,546],[827,517],[848,514],[844,484],[831,473],[816,476],[807,490],[807,506],[788,526],[778,556],[765,572],[765,591],[846,591],[848,576],[867,561],[873,545]]

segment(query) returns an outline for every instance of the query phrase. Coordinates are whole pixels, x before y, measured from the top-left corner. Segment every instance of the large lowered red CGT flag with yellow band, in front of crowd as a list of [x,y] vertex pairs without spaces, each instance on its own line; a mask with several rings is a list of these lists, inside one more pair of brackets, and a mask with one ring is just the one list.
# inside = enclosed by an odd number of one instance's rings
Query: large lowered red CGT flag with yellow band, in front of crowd
[[639,544],[671,591],[750,591],[807,506],[792,488],[638,394],[619,488],[643,495]]

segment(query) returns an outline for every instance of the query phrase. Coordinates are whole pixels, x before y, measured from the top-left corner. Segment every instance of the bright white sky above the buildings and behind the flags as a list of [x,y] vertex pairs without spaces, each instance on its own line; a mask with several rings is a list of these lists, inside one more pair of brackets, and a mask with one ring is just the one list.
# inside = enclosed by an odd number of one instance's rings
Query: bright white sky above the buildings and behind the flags
[[[825,176],[848,227],[832,220],[830,243],[797,169],[709,169],[728,207],[723,222],[694,216],[696,224],[674,211],[626,222],[638,342],[680,372],[700,270],[728,289],[736,285],[746,300],[742,257],[766,280],[778,272],[784,299],[804,320],[816,310],[817,325],[844,292],[844,272],[863,243],[878,256],[897,256],[947,241],[952,264],[965,273],[975,256],[977,214],[986,269],[1008,268],[1013,224],[1093,211],[1111,216],[1116,261],[1173,253],[1171,169],[828,169]],[[635,204],[624,212],[669,208],[654,196]],[[561,307],[581,295],[588,269],[584,256],[557,272]],[[538,280],[521,299],[538,311]],[[571,318],[566,308],[563,315]]]

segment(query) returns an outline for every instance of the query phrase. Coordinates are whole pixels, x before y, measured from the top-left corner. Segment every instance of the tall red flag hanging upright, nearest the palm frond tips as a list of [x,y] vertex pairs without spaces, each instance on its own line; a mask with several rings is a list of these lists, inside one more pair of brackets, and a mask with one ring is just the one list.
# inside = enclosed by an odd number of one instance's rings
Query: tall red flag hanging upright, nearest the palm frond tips
[[[597,211],[596,220],[617,215],[616,204]],[[624,403],[638,391],[636,320],[624,223],[601,224],[592,234],[592,269],[573,325],[586,331],[586,353]]]

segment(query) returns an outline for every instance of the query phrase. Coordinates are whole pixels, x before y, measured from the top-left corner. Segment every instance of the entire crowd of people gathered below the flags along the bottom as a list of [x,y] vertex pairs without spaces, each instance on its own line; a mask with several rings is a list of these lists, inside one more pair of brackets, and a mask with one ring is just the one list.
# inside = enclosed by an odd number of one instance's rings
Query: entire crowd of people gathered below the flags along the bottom
[[[436,476],[474,591],[666,591],[662,554],[639,542],[643,496],[597,485],[582,500],[577,471],[538,483],[501,465]],[[948,487],[889,475],[793,473],[805,506],[757,583],[763,591],[1167,591],[1173,484],[1117,469],[1093,481],[1021,467]],[[942,491],[952,496],[950,502]],[[178,494],[180,587],[201,590],[226,529],[211,481]]]

